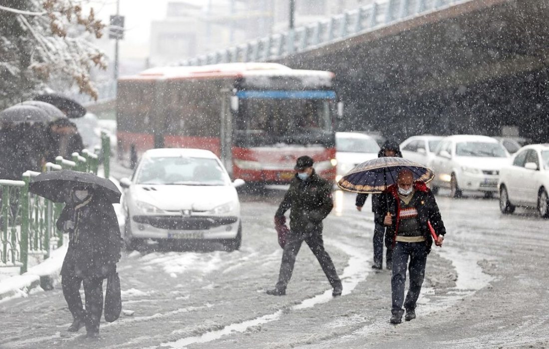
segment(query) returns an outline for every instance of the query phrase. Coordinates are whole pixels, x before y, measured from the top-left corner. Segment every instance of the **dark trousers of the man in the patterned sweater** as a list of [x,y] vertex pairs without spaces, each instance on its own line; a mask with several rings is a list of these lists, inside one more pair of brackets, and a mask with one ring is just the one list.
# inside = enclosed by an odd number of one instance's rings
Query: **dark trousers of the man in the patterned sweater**
[[[408,258],[410,263],[408,264]],[[393,277],[391,278],[391,294],[393,296],[393,314],[402,316],[406,311],[416,309],[416,302],[425,277],[425,263],[427,262],[427,245],[421,243],[401,243],[397,241],[393,249]],[[404,300],[404,286],[406,283],[406,268],[410,273],[410,287]]]

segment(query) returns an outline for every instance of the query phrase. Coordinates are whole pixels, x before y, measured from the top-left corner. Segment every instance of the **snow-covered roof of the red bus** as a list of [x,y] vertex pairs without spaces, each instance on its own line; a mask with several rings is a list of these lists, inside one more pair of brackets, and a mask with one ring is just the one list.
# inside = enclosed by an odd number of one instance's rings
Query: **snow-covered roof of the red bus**
[[137,75],[121,77],[120,80],[143,80],[156,78],[193,78],[223,76],[321,76],[333,77],[329,71],[296,70],[278,63],[223,63],[201,66],[154,67]]

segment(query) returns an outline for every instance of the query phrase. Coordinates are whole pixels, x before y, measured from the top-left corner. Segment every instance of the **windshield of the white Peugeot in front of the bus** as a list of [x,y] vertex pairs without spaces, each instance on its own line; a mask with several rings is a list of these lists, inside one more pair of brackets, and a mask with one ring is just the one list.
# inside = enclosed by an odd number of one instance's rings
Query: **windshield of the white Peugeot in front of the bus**
[[219,162],[204,157],[146,157],[137,184],[227,185]]

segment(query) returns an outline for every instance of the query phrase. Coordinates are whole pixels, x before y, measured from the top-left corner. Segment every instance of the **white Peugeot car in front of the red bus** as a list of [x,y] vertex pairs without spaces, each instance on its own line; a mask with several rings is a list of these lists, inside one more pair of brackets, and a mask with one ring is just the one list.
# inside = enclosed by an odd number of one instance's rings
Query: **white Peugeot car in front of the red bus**
[[127,249],[156,241],[216,240],[238,250],[240,202],[219,158],[209,150],[145,151],[131,179],[122,178]]

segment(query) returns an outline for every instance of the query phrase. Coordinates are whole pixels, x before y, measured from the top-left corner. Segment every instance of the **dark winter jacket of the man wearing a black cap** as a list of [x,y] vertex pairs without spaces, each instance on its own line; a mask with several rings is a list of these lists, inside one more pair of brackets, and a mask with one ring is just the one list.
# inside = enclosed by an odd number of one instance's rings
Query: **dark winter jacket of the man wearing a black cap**
[[297,175],[292,179],[275,217],[283,216],[290,209],[290,231],[308,233],[322,229],[322,219],[328,216],[333,206],[332,184],[313,170],[305,181]]

